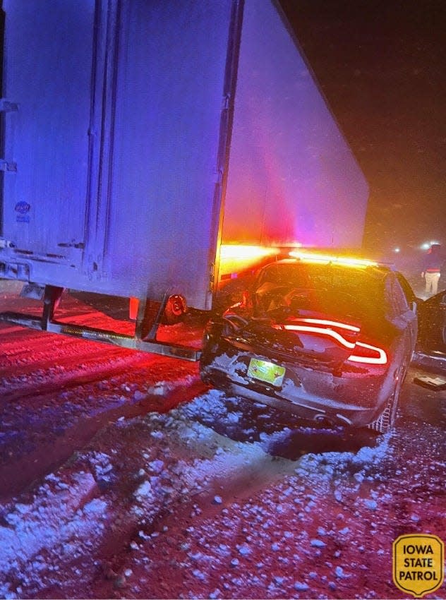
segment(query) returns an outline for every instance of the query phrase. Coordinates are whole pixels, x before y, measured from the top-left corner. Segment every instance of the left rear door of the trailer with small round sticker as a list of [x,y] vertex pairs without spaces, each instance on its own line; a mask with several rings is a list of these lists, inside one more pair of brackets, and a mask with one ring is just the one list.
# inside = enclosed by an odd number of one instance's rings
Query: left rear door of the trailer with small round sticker
[[7,102],[2,105],[1,235],[25,256],[69,256],[79,264],[88,197],[95,2],[4,0],[3,6]]

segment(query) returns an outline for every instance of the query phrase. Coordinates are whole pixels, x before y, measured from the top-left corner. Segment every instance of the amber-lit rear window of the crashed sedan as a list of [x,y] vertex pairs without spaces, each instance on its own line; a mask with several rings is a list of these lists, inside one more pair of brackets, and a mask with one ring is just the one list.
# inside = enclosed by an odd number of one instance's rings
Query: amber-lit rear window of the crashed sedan
[[385,311],[384,276],[370,268],[275,263],[260,271],[255,284],[255,296],[263,310],[268,309],[263,298],[273,291],[284,296],[296,291],[296,308],[361,319]]

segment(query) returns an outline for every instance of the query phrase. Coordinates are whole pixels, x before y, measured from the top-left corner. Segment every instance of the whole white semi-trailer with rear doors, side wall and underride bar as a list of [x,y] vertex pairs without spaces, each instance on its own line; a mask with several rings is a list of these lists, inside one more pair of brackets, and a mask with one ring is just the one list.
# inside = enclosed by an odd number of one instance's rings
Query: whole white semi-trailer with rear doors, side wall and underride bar
[[[258,262],[234,247],[361,244],[366,182],[275,1],[3,9],[0,276],[44,300],[3,320],[196,359],[159,320],[212,308]],[[135,335],[58,323],[64,289],[138,299]]]

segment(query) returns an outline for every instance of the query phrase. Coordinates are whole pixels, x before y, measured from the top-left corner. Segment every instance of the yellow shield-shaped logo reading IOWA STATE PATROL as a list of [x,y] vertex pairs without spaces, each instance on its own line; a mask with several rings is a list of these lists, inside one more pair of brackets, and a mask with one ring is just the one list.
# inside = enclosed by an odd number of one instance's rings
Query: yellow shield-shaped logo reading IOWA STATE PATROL
[[441,587],[445,576],[445,545],[433,535],[399,536],[393,543],[393,581],[397,588],[422,598]]

